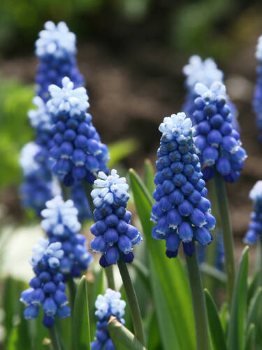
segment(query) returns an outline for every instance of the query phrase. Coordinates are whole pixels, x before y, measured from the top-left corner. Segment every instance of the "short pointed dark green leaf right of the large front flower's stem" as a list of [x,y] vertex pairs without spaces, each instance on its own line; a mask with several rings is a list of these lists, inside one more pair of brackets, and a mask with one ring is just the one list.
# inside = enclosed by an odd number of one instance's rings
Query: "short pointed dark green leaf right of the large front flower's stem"
[[214,304],[214,300],[207,289],[205,289],[205,302],[207,304],[208,325],[213,349],[226,350],[226,339],[220,322],[219,314],[217,312],[217,307],[216,304]]

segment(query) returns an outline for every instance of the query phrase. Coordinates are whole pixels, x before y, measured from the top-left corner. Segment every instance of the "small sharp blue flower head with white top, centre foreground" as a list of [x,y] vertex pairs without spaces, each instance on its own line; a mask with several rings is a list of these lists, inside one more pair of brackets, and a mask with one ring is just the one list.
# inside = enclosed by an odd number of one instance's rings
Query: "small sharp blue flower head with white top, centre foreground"
[[110,175],[99,172],[94,181],[98,188],[92,190],[94,218],[91,232],[96,238],[91,241],[91,249],[102,254],[100,265],[115,264],[119,258],[124,262],[133,261],[133,246],[142,241],[140,232],[131,225],[131,212],[126,210],[129,189],[126,178],[120,178],[115,169]]

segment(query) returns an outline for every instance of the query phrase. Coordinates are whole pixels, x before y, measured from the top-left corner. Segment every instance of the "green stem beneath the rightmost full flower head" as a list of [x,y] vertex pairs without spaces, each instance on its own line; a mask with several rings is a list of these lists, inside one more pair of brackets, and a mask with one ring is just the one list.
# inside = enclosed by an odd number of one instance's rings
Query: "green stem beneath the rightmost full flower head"
[[217,191],[217,201],[219,204],[219,213],[221,227],[223,230],[224,249],[225,249],[225,267],[227,275],[228,304],[231,306],[233,290],[235,285],[235,254],[233,232],[231,228],[231,218],[228,209],[228,198],[226,195],[226,185],[223,177],[217,171],[214,173],[214,183]]

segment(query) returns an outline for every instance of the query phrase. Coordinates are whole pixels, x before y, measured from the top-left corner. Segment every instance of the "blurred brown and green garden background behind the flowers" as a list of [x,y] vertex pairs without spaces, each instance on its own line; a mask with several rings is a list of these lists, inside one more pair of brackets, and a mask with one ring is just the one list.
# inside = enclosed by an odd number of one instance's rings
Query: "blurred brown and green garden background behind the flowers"
[[133,139],[122,169],[141,172],[145,158],[156,159],[159,123],[181,111],[184,102],[182,67],[189,57],[215,59],[238,107],[249,156],[240,180],[228,186],[236,244],[242,247],[252,211],[249,190],[262,178],[262,146],[251,108],[261,16],[261,1],[1,0],[1,222],[14,227],[29,219],[18,199],[17,160],[34,139],[27,118],[37,66],[34,41],[45,21],[64,20],[78,38],[78,64],[102,141]]

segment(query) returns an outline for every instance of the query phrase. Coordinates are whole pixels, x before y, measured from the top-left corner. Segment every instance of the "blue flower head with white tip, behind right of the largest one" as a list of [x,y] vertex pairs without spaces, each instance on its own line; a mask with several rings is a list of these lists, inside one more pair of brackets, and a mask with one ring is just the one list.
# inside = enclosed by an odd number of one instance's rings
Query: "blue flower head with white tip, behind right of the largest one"
[[240,135],[233,128],[231,107],[226,102],[226,87],[221,82],[208,88],[197,83],[192,119],[196,127],[196,151],[201,160],[204,179],[214,176],[214,167],[225,181],[236,181],[245,159]]

